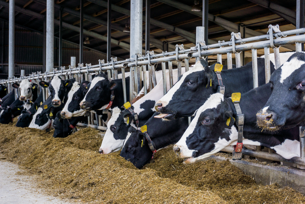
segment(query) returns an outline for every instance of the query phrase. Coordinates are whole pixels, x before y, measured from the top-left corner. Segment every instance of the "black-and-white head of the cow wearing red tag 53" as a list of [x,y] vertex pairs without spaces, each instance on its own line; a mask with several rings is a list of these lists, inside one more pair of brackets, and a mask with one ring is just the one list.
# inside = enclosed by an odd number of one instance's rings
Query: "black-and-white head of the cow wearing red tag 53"
[[216,93],[201,106],[191,124],[174,145],[174,152],[193,163],[209,157],[237,139],[238,131],[232,110],[224,101],[224,95]]

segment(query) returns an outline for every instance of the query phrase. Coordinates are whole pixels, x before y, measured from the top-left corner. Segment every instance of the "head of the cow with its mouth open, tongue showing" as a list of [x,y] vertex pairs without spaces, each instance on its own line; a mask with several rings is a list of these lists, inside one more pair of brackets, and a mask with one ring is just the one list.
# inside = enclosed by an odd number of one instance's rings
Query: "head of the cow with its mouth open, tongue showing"
[[215,72],[207,67],[206,61],[197,61],[193,69],[185,72],[178,82],[156,102],[155,109],[161,113],[157,117],[172,120],[192,116],[202,105],[202,101],[217,92],[216,80]]

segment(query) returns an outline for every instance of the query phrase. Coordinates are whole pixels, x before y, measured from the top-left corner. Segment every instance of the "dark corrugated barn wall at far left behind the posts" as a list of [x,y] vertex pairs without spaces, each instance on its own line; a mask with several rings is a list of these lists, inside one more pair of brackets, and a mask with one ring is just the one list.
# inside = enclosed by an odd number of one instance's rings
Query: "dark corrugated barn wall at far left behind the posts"
[[[9,42],[9,25],[6,21],[1,21],[0,36],[2,35],[2,26],[4,27],[4,43],[2,45],[0,38],[0,64],[2,64],[1,56],[3,52],[3,64],[0,65],[0,78],[8,77],[8,42]],[[58,45],[59,39],[54,40],[54,66],[58,67]],[[15,76],[20,75],[20,70],[24,69],[25,74],[32,72],[44,72],[42,66],[42,50],[43,50],[43,34],[27,30],[20,26],[15,26]],[[86,63],[98,64],[99,59],[106,59],[106,55],[84,49],[84,65]],[[63,62],[62,66],[70,65],[70,57],[76,57],[76,64],[79,63],[79,46],[73,43],[63,41]],[[31,66],[28,66],[31,65]]]

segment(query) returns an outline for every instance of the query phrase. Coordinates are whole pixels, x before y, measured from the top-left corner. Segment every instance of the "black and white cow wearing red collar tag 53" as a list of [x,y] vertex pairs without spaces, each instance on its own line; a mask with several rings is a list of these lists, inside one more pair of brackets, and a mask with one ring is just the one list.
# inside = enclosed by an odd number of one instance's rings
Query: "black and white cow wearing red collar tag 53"
[[[269,132],[256,126],[257,110],[270,95],[270,83],[241,95],[239,105],[245,114],[242,143],[271,148],[286,159],[300,157],[299,128]],[[174,145],[174,152],[184,158],[184,163],[193,163],[224,147],[236,145],[238,127],[235,120],[237,113],[232,100],[220,93],[211,95],[196,111],[190,126]]]

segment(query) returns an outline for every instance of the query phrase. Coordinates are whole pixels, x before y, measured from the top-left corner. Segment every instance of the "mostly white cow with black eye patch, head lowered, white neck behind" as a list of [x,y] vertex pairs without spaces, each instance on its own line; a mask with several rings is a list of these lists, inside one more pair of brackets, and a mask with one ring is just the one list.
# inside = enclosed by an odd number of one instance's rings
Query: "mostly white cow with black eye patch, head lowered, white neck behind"
[[[185,69],[181,69],[182,74]],[[167,90],[170,89],[169,72],[167,76]],[[173,70],[173,83],[178,80],[178,69]],[[154,106],[157,100],[163,96],[163,79],[160,79],[157,85],[142,98],[132,104],[131,108],[138,114],[138,127],[145,124],[145,122],[153,115]],[[123,147],[124,139],[127,137],[128,128],[130,126],[136,127],[135,116],[129,110],[121,111],[119,108],[113,109],[112,117],[107,123],[107,130],[99,148],[100,154],[109,154],[118,151]]]

